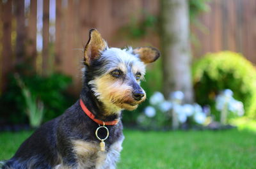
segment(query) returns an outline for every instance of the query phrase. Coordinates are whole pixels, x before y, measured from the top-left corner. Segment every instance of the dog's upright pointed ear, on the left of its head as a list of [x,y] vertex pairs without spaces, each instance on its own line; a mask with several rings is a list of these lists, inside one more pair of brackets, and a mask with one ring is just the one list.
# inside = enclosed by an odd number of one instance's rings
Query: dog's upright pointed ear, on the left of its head
[[90,66],[93,59],[99,59],[100,52],[108,48],[106,41],[96,29],[90,30],[89,40],[84,47],[84,64]]

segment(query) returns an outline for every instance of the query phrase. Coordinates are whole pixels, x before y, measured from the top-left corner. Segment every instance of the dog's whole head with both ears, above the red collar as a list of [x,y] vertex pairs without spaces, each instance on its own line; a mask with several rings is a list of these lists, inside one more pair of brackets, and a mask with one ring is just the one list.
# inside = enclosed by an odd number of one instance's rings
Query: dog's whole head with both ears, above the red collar
[[158,57],[158,50],[151,47],[109,48],[97,30],[90,31],[84,49],[85,77],[89,77],[88,85],[107,114],[134,110],[145,101],[145,91],[140,87],[145,64]]

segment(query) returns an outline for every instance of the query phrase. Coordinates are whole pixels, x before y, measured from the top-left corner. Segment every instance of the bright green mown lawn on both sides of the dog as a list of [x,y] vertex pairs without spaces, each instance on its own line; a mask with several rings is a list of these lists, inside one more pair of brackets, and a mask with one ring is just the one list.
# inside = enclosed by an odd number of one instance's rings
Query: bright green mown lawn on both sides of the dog
[[[0,159],[10,158],[31,132],[0,133]],[[118,168],[256,168],[256,133],[125,130]]]

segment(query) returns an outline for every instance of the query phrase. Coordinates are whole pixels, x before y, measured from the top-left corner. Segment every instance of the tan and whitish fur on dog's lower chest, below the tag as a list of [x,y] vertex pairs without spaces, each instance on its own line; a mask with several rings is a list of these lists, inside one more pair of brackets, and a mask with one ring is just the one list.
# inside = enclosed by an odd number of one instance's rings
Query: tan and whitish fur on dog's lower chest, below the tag
[[74,153],[77,156],[77,168],[115,169],[122,151],[124,137],[110,145],[106,151],[100,151],[99,143],[73,141]]

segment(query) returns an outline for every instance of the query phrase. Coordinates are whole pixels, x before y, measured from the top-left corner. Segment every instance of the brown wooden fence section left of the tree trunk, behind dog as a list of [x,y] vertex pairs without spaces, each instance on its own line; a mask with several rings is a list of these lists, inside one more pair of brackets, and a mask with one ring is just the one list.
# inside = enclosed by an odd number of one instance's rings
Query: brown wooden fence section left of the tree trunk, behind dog
[[[157,0],[0,0],[0,3],[0,89],[5,88],[6,75],[15,70],[15,65],[30,61],[43,75],[61,71],[72,76],[72,91],[77,93],[89,30],[97,28],[110,46],[124,47],[127,40],[119,34],[120,29],[132,18],[142,19],[147,13],[158,12]],[[149,43],[158,44],[156,40]],[[147,43],[140,41],[140,44]]]

